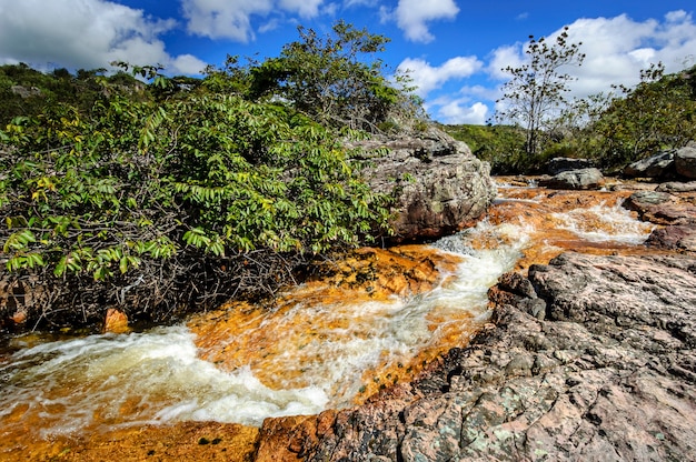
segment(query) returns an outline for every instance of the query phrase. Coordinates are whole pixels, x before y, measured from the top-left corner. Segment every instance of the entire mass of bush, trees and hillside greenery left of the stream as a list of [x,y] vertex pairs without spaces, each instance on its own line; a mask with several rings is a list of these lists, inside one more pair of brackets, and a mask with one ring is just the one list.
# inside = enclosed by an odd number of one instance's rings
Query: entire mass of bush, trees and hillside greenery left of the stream
[[339,142],[418,117],[361,57],[385,42],[345,23],[300,29],[279,58],[230,57],[196,81],[1,68],[1,282],[10,297],[39,287],[28,325],[272,294],[310,260],[388,233],[388,198]]

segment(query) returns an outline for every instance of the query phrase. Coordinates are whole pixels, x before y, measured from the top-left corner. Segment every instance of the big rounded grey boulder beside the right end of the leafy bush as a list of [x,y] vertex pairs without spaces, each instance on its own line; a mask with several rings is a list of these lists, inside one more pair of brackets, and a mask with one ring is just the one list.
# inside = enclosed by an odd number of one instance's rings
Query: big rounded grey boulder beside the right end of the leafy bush
[[490,167],[435,128],[416,137],[355,143],[374,164],[366,175],[376,192],[395,197],[396,241],[437,238],[477,221],[496,195]]

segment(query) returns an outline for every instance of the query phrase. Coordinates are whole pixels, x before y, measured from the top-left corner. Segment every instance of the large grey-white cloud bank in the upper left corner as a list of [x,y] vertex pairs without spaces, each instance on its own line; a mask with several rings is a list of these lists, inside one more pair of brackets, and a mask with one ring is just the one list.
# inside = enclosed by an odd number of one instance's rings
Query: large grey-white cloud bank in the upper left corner
[[172,73],[202,70],[198,58],[167,52],[159,37],[176,27],[106,0],[0,0],[0,63],[95,69],[128,61]]

